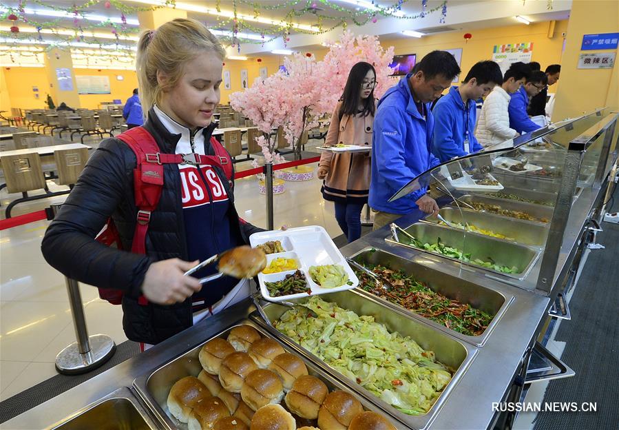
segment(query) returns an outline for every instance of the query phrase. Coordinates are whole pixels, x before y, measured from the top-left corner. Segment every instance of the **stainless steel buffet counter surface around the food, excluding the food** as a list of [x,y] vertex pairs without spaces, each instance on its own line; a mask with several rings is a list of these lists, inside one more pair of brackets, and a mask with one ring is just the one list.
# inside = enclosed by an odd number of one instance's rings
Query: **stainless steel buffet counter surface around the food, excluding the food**
[[[616,158],[610,158],[605,163],[605,173],[610,170],[615,160]],[[455,260],[441,258],[419,249],[388,243],[385,240],[390,236],[387,227],[342,248],[344,255],[353,258],[370,258],[368,250],[371,249],[377,249],[381,258],[390,258],[392,254],[401,260],[408,261],[407,264],[410,267],[415,267],[422,280],[423,276],[430,277],[429,280],[436,280],[439,287],[443,289],[449,289],[450,283],[459,280],[460,287],[468,286],[475,291],[474,294],[469,293],[469,296],[486,294],[490,297],[488,300],[492,301],[492,305],[489,306],[493,307],[496,316],[481,336],[463,336],[412,312],[390,307],[397,314],[400,323],[409,321],[411,327],[419,327],[421,331],[432,331],[437,333],[437,336],[448,338],[453,345],[459,345],[457,349],[463,351],[464,356],[461,361],[462,366],[454,374],[448,389],[445,389],[443,396],[428,414],[421,416],[421,419],[406,420],[409,424],[412,423],[410,425],[413,427],[407,427],[402,420],[398,421],[397,414],[388,411],[390,407],[385,404],[386,409],[383,410],[386,415],[390,415],[392,419],[395,418],[394,422],[398,423],[399,429],[485,429],[492,427],[497,416],[492,405],[505,400],[514,385],[514,380],[519,373],[522,373],[523,365],[526,367],[528,352],[532,349],[547,320],[551,301],[563,288],[565,278],[587,231],[589,218],[594,209],[600,206],[600,198],[605,196],[605,183],[581,187],[578,192],[578,198],[572,203],[567,219],[563,244],[558,253],[556,271],[549,294],[543,294],[536,289],[542,258],[533,260],[531,267],[521,278],[505,276],[479,267],[462,265]],[[423,214],[412,213],[403,216],[396,223],[406,228],[417,223],[420,218],[423,218]],[[529,239],[534,240],[532,237]],[[354,294],[355,300],[364,300],[365,296],[368,303],[374,303],[374,307],[384,306],[384,303],[379,303],[380,300],[375,300],[375,296],[369,296],[361,290],[342,294]],[[337,293],[333,294],[335,295]],[[120,363],[60,396],[1,424],[0,428],[11,430],[56,428],[59,424],[67,423],[67,418],[76,418],[83,411],[97,409],[106,411],[111,420],[114,416],[136,418],[137,413],[143,417],[143,428],[167,428],[169,422],[165,422],[161,417],[158,418],[158,413],[154,410],[149,410],[149,406],[143,397],[140,397],[136,387],[144,387],[147,376],[189,351],[191,354],[196,354],[196,347],[242,320],[253,318],[254,322],[258,322],[254,311],[255,307],[251,305],[251,302],[245,300],[156,345],[143,354]],[[271,334],[276,336],[274,333]],[[311,357],[309,359],[311,361]],[[338,374],[333,373],[333,369],[321,363],[315,364],[328,373],[330,378],[335,380],[336,385],[337,383],[347,384],[345,380],[338,378]],[[134,382],[136,380],[137,382]],[[348,385],[348,388],[355,389],[354,385]],[[376,399],[368,398],[360,390],[357,391],[357,395],[368,400],[368,404],[372,404],[377,410],[382,407]],[[129,407],[127,402],[134,405],[136,412],[127,413],[126,407]],[[115,411],[120,412],[115,415]],[[78,428],[72,427],[70,422],[72,421],[68,421],[68,424],[61,425],[59,428]],[[142,427],[136,426],[136,428]]]

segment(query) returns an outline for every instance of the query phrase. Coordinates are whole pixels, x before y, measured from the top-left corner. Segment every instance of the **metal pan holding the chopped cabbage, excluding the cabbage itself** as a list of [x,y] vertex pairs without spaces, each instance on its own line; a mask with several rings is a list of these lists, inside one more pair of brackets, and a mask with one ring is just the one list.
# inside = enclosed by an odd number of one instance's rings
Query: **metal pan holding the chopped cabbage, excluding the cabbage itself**
[[[443,331],[434,328],[432,325],[426,323],[426,320],[418,320],[412,318],[410,313],[404,313],[393,307],[388,307],[379,300],[375,300],[374,296],[359,294],[359,291],[349,290],[342,291],[334,294],[324,294],[321,296],[323,300],[328,302],[335,302],[339,307],[354,311],[357,315],[373,316],[377,323],[386,325],[389,331],[397,331],[402,336],[409,336],[412,340],[415,340],[419,346],[423,349],[434,351],[435,357],[438,361],[454,369],[452,380],[448,383],[447,387],[443,390],[443,393],[428,413],[419,416],[410,416],[405,413],[401,413],[394,407],[391,407],[386,402],[375,396],[370,391],[358,385],[357,382],[350,380],[339,371],[333,369],[326,364],[326,362],[320,360],[315,354],[297,344],[294,340],[288,336],[280,333],[277,329],[266,325],[258,311],[254,311],[250,314],[250,318],[255,320],[258,324],[262,325],[266,330],[270,331],[274,336],[280,336],[281,340],[284,340],[288,345],[293,347],[303,356],[309,358],[309,360],[318,363],[324,371],[330,373],[337,380],[341,380],[351,391],[356,391],[361,396],[364,396],[366,400],[372,402],[377,408],[386,411],[392,417],[399,420],[410,429],[424,430],[432,423],[436,418],[439,410],[448,399],[450,392],[461,380],[466,369],[470,366],[474,360],[474,356],[479,352],[478,349],[468,343],[463,342],[452,336],[448,336]],[[307,299],[293,300],[298,303],[303,303]],[[276,305],[275,303],[269,303],[264,306],[264,312],[269,316],[271,321],[275,321],[284,314],[289,308],[282,305]],[[401,428],[397,427],[397,428]]]

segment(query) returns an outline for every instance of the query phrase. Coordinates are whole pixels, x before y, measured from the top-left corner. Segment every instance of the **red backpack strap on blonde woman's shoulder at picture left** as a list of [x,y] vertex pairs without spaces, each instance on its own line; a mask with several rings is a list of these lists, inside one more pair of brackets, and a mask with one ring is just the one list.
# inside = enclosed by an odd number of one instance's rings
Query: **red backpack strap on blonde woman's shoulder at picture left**
[[153,161],[158,159],[159,146],[144,127],[134,127],[116,138],[125,142],[136,154],[134,194],[138,216],[131,251],[146,254],[148,224],[163,190],[163,165]]

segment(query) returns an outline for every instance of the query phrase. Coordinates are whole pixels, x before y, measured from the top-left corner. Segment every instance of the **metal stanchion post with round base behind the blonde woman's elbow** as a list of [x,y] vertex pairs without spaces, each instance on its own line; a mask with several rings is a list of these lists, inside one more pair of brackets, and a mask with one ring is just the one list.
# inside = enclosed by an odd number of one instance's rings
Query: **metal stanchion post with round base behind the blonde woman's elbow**
[[[48,218],[55,218],[61,205],[51,205]],[[56,356],[56,369],[60,373],[76,375],[86,373],[103,365],[116,351],[114,340],[105,334],[88,336],[84,306],[79,284],[76,280],[65,276],[67,295],[71,315],[73,316],[73,328],[75,329],[76,342],[65,347]]]

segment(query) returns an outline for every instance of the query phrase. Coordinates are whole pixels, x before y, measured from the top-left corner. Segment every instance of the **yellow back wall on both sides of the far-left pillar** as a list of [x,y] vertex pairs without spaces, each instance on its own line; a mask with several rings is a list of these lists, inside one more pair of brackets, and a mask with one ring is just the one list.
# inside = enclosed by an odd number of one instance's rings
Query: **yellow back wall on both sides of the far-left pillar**
[[[45,108],[45,97],[50,92],[50,82],[45,68],[10,68],[2,70],[8,88],[8,101],[5,102],[5,97],[2,96],[1,110],[10,110],[10,107],[21,107],[22,109],[43,109]],[[109,85],[112,94],[80,94],[80,107],[85,109],[98,109],[99,103],[104,101],[111,102],[114,99],[120,99],[125,103],[125,100],[131,96],[134,88],[138,88],[138,78],[136,72],[132,70],[101,70],[97,69],[74,69],[74,75],[87,76],[109,76]],[[125,79],[117,81],[116,75],[121,75]],[[1,78],[2,76],[0,76]],[[39,87],[39,100],[34,99],[32,87]],[[54,103],[58,106],[64,100],[54,99]],[[8,108],[4,107],[5,103],[10,103]],[[66,102],[65,102],[66,103]],[[71,107],[75,107],[67,103]]]

